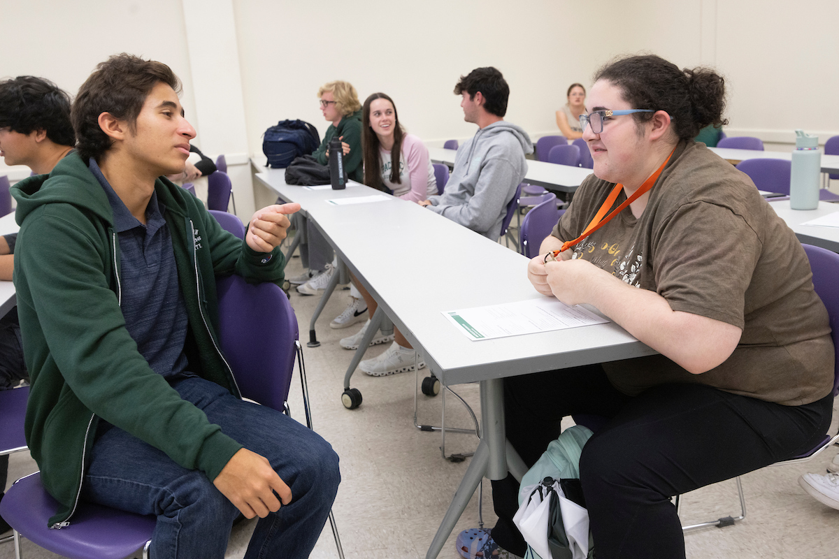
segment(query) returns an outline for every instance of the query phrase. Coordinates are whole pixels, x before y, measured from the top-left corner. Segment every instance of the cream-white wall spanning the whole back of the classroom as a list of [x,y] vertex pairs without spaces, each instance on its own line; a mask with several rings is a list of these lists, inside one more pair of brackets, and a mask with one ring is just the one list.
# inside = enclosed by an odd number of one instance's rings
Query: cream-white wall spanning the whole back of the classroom
[[[458,77],[494,65],[512,91],[508,120],[539,137],[555,132],[571,82],[590,85],[613,55],[647,50],[722,70],[729,135],[792,142],[803,127],[824,142],[839,134],[836,21],[836,0],[0,0],[0,76],[42,75],[75,93],[109,54],[161,60],[184,82],[196,144],[242,163],[284,118],[322,134],[326,81],[352,82],[362,100],[388,93],[409,131],[440,145],[474,133],[451,92]],[[217,67],[214,49],[227,54]],[[245,168],[234,187],[248,189]],[[252,205],[238,202],[247,219]]]

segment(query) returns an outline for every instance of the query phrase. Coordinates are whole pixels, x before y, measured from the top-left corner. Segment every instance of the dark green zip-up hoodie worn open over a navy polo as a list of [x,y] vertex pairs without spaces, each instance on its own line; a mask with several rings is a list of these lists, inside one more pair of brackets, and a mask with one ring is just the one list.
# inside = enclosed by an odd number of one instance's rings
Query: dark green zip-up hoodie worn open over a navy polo
[[[189,370],[239,396],[218,349],[215,276],[282,281],[284,257],[278,249],[270,258],[253,251],[168,180],[158,179],[154,189],[165,205],[189,315]],[[50,525],[71,520],[76,510],[99,417],[216,479],[242,445],[181,400],[128,334],[119,306],[119,244],[102,185],[71,153],[49,176],[24,179],[12,194],[21,225],[14,283],[31,379],[26,440],[44,487],[62,505]]]

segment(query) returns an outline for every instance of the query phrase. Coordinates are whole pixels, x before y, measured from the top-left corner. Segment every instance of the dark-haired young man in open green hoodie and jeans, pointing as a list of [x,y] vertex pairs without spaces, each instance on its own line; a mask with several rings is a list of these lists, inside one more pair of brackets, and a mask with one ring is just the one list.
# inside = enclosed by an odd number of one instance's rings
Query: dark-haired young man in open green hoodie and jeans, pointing
[[164,175],[195,130],[168,66],[98,65],[71,117],[77,152],[13,188],[15,284],[32,385],[26,435],[71,524],[79,499],[157,515],[151,553],[221,557],[258,515],[247,557],[305,557],[340,480],[336,454],[283,414],[243,402],[217,349],[216,275],[283,278],[299,204],[272,205],[244,241]]

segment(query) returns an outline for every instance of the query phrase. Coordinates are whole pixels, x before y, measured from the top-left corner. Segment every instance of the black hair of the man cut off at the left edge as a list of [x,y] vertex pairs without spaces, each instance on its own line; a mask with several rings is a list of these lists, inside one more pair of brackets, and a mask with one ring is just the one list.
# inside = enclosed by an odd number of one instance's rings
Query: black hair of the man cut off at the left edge
[[70,96],[50,80],[18,75],[0,81],[0,128],[31,134],[43,130],[61,146],[75,146]]

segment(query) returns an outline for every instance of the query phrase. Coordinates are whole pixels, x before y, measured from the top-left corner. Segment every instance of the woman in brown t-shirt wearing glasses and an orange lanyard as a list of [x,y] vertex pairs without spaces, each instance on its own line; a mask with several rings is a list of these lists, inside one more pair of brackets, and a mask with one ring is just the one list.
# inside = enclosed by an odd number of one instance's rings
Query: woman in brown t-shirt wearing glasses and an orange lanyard
[[[506,379],[507,434],[533,464],[562,417],[604,417],[580,461],[597,556],[684,557],[671,495],[794,456],[826,432],[831,329],[792,231],[748,177],[692,140],[726,123],[722,77],[647,55],[594,81],[583,127],[594,175],[528,275],[660,355]],[[590,230],[602,206],[627,201]],[[518,484],[492,489],[492,538],[524,555]]]

